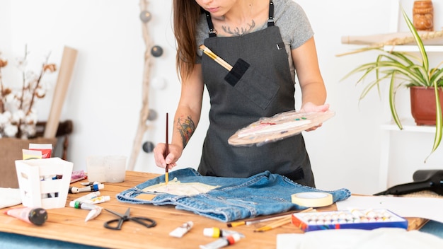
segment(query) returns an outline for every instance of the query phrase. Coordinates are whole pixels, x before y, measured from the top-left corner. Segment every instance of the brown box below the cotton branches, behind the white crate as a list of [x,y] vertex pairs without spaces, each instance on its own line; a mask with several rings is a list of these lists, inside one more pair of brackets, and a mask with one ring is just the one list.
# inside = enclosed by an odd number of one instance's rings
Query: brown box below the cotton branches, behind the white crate
[[46,139],[16,139],[5,137],[0,139],[0,187],[18,188],[16,160],[23,159],[22,149],[28,149],[29,144],[52,144],[54,149],[57,138]]

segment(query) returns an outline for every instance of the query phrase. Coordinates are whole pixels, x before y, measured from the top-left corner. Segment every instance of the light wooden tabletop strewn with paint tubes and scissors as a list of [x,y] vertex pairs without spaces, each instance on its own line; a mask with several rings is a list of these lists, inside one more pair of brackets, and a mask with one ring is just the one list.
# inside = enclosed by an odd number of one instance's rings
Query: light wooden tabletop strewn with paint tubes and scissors
[[[199,216],[192,212],[177,210],[175,206],[127,204],[119,202],[115,198],[115,195],[123,190],[134,187],[139,183],[144,183],[146,180],[155,178],[156,176],[158,175],[152,173],[127,171],[125,182],[105,183],[105,189],[100,190],[100,193],[101,195],[110,195],[111,200],[98,204],[101,207],[120,213],[124,213],[126,209],[130,207],[131,216],[147,216],[154,219],[157,222],[154,228],[145,228],[132,221],[125,222],[120,231],[104,228],[103,223],[105,221],[117,218],[117,216],[105,210],[103,210],[96,219],[85,222],[84,219],[89,212],[88,210],[69,207],[71,200],[87,194],[79,193],[69,194],[67,207],[47,209],[48,219],[43,226],[27,224],[4,214],[4,211],[8,208],[1,209],[0,231],[105,248],[199,248],[199,245],[205,245],[215,240],[215,238],[203,236],[203,228],[219,227],[226,230],[238,231],[246,236],[246,238],[242,238],[241,241],[229,247],[233,249],[276,248],[277,234],[302,233],[299,228],[292,224],[287,224],[263,233],[255,233],[253,230],[265,224],[228,228],[224,222]],[[82,187],[80,183],[72,183],[71,186]],[[335,209],[335,204],[333,204],[317,210],[330,211]],[[194,226],[183,238],[174,238],[168,235],[173,229],[181,226],[186,221],[192,221]],[[425,223],[424,219],[409,219],[409,221],[410,229],[418,228]]]

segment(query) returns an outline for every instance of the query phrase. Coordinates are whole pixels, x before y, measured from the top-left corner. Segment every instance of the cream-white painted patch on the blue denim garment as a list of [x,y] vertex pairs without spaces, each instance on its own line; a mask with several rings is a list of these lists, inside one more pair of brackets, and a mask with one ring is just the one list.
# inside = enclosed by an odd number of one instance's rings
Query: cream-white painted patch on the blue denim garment
[[168,182],[168,186],[166,187],[166,183],[158,183],[156,185],[151,185],[149,187],[145,187],[143,189],[144,192],[157,192],[157,193],[168,193],[171,195],[185,195],[192,196],[198,195],[201,193],[209,192],[216,187],[220,186],[212,186],[204,183],[180,183],[177,178],[170,180]]

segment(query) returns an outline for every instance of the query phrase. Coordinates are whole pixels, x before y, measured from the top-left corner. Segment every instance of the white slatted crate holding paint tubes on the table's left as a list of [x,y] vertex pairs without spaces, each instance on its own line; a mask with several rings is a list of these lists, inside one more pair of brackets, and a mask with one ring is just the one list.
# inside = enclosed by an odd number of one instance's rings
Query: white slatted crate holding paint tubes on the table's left
[[23,206],[44,209],[65,207],[73,167],[74,163],[60,158],[17,160]]

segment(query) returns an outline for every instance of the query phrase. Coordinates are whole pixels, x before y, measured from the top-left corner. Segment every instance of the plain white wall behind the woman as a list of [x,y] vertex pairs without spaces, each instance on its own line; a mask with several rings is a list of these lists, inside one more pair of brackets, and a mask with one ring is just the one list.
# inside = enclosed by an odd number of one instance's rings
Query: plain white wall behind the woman
[[[396,29],[391,11],[396,0],[297,0],[304,7],[316,32],[319,63],[328,88],[328,100],[336,116],[316,132],[304,133],[316,175],[317,187],[347,187],[352,192],[379,192],[380,125],[390,120],[386,96],[375,92],[358,102],[361,86],[355,79],[340,81],[357,64],[374,59],[367,52],[347,57],[336,54],[355,46],[340,44],[343,35],[372,35]],[[443,25],[443,3],[435,2],[436,28]],[[412,10],[413,0],[403,0]],[[159,113],[151,122],[144,141],[164,140],[166,112],[176,110],[180,83],[175,70],[175,44],[171,33],[171,1],[151,0],[149,23],[151,40],[164,53],[152,59],[151,79],[164,79],[166,88],[150,90],[149,105]],[[63,107],[62,120],[74,121],[69,146],[69,161],[74,169],[86,169],[86,156],[123,154],[128,157],[142,108],[142,66],[144,42],[139,21],[139,1],[127,0],[3,0],[0,1],[0,51],[11,59],[21,56],[24,45],[33,55],[52,51],[52,62],[59,63],[64,45],[79,50],[74,76]],[[411,11],[410,11],[411,12]],[[402,30],[404,26],[399,25]],[[403,29],[404,30],[404,29]],[[12,62],[12,59],[11,59]],[[12,63],[11,63],[12,64]],[[178,162],[179,168],[196,168],[209,110],[207,95],[202,121]],[[408,101],[408,100],[405,100]],[[40,120],[49,115],[51,99],[40,101]],[[405,103],[407,110],[408,103]],[[408,116],[408,112],[405,116]],[[442,150],[422,161],[431,146],[432,134],[393,136],[390,184],[412,180],[419,168],[442,168]],[[400,141],[401,140],[401,141]],[[420,153],[413,155],[419,146]],[[407,148],[403,148],[407,147]],[[408,150],[408,152],[404,152]],[[408,167],[405,170],[403,167]],[[152,154],[140,152],[135,170],[162,173]]]

